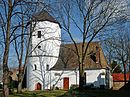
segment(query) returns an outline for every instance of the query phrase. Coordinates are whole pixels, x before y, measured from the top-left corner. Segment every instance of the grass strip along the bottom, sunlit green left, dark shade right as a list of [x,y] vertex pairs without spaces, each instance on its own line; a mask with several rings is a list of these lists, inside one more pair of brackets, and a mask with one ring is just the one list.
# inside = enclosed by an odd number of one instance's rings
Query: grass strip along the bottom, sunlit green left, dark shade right
[[14,93],[9,97],[130,97],[129,91],[114,91],[101,89],[84,90],[54,90],[54,91],[33,91],[22,94]]

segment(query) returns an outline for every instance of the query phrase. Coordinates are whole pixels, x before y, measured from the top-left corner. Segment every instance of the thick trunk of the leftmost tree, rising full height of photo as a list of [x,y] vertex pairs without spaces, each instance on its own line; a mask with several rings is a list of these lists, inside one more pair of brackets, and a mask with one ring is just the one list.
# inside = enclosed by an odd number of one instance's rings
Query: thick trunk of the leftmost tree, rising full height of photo
[[5,51],[3,56],[3,95],[9,97],[9,69],[8,69],[8,56],[10,47],[10,24],[12,15],[12,0],[8,0],[8,17],[7,17],[7,31],[5,39]]

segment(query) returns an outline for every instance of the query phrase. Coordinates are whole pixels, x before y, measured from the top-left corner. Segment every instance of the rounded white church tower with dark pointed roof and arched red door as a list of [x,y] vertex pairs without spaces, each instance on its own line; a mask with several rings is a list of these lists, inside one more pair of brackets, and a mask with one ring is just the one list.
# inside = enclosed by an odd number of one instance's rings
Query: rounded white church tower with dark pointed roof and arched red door
[[33,17],[27,64],[27,88],[30,91],[50,89],[52,68],[58,59],[61,44],[59,23],[44,11]]

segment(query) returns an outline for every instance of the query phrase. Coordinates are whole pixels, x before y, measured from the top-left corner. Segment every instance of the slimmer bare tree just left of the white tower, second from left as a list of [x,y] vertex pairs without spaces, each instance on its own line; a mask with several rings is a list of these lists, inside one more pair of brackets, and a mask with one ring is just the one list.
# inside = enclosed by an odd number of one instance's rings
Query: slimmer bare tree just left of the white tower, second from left
[[[33,8],[33,9],[32,9]],[[21,29],[19,29],[19,34],[14,33],[14,48],[17,55],[18,60],[18,92],[22,91],[22,82],[25,74],[25,70],[27,67],[27,60],[28,56],[31,54],[30,51],[31,46],[31,39],[32,35],[34,34],[35,26],[37,25],[37,20],[34,18],[34,15],[46,10],[47,7],[45,3],[41,1],[36,2],[22,2],[20,4],[21,14],[19,15],[21,21]],[[31,26],[32,22],[35,21],[33,27]],[[30,28],[29,28],[30,27]],[[31,30],[29,30],[31,29]],[[29,32],[28,32],[29,31]],[[42,41],[43,42],[43,41]],[[39,45],[40,43],[38,43]],[[34,50],[37,46],[34,47]]]

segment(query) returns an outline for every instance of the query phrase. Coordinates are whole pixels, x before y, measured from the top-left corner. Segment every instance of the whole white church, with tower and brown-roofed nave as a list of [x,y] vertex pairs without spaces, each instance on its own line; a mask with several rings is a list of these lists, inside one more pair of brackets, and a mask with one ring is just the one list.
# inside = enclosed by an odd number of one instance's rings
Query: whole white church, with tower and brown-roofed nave
[[[68,90],[79,84],[77,56],[73,44],[61,44],[60,24],[47,12],[34,17],[27,64],[27,89],[44,90],[57,87]],[[81,47],[82,43],[78,43]],[[112,87],[112,77],[98,42],[89,47],[92,56],[85,58],[85,84],[93,87]]]

